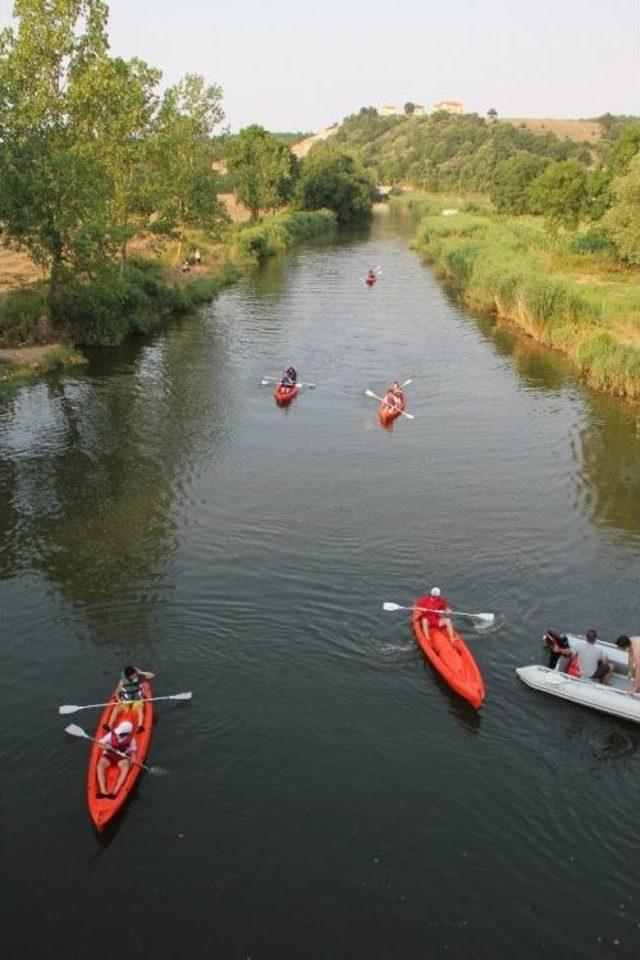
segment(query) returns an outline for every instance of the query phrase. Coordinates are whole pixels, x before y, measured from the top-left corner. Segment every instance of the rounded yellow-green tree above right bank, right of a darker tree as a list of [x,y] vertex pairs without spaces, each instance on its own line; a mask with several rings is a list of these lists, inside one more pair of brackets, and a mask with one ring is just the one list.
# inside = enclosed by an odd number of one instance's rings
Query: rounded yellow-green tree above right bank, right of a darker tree
[[587,171],[577,160],[549,164],[529,188],[530,209],[554,227],[576,227],[587,204]]

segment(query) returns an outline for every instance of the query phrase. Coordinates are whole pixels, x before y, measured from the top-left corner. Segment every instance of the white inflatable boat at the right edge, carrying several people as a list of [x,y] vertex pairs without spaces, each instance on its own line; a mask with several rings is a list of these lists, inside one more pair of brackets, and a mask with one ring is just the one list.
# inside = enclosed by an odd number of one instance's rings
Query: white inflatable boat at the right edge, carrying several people
[[[583,637],[573,634],[568,634],[568,639],[573,649],[586,645],[587,642]],[[640,723],[640,694],[629,695],[626,650],[620,650],[615,644],[603,643],[601,640],[598,640],[598,644],[606,650],[607,658],[615,670],[611,683],[606,686],[597,680],[572,677],[565,673],[566,657],[560,657],[553,669],[534,664],[530,667],[518,667],[516,673],[523,683],[534,690],[542,690],[554,697],[572,700],[585,707],[593,707],[594,710],[602,710],[604,713],[612,713],[616,717]]]

